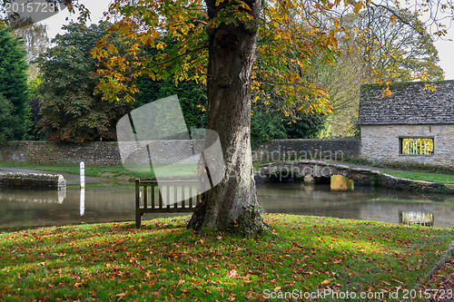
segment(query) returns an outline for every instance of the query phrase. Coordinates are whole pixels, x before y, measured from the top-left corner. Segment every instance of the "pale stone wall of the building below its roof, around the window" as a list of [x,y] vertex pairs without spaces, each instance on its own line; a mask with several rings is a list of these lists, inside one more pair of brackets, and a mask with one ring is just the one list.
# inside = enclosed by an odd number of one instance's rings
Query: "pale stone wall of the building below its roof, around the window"
[[[400,137],[433,137],[433,155],[400,154]],[[360,157],[383,163],[422,164],[454,170],[454,124],[361,125]]]

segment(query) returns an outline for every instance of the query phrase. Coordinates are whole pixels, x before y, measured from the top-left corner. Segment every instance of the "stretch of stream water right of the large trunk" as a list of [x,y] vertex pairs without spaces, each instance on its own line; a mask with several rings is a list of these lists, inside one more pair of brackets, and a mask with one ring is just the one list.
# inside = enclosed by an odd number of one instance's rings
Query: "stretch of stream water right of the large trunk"
[[271,213],[329,216],[400,223],[400,212],[429,212],[434,227],[454,227],[454,195],[357,186],[331,190],[330,185],[267,182],[258,188],[263,209]]

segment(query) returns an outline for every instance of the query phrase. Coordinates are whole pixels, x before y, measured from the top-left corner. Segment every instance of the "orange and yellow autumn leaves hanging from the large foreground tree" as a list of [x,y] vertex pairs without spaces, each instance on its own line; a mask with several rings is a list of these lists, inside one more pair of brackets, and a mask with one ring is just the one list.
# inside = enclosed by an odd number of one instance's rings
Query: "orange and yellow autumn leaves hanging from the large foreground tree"
[[[129,47],[127,54],[116,55],[118,52],[113,44],[107,42],[106,35],[92,51],[94,57],[107,67],[100,71],[102,79],[98,85],[104,99],[119,101],[125,98],[128,102],[133,101],[133,94],[138,91],[133,80],[140,75],[148,75],[153,80],[171,77],[174,83],[187,80],[206,83],[207,31],[222,23],[252,24],[248,3],[217,0],[216,5],[224,6],[222,15],[209,21],[206,5],[201,0],[139,0],[133,5],[125,0],[115,1],[110,6],[109,15],[116,16],[119,21],[110,32],[120,33]],[[437,17],[441,19],[449,15],[452,7],[449,1],[439,3],[440,15]],[[381,53],[390,57],[399,55],[393,50],[395,45],[380,41],[378,35],[372,32],[380,28],[351,28],[345,25],[345,16],[362,14],[373,18],[374,12],[386,10],[390,22],[400,24],[396,26],[396,31],[401,32],[408,27],[415,34],[427,35],[424,24],[414,20],[434,9],[431,2],[405,6],[398,1],[263,1],[257,34],[259,54],[252,75],[253,94],[262,102],[267,96],[271,96],[272,100],[283,98],[284,105],[281,107],[287,106],[289,112],[291,109],[331,112],[329,95],[314,81],[311,72],[314,63],[334,64],[338,54],[346,50],[344,47],[348,50],[349,45],[338,44],[340,37],[356,36],[357,39],[360,34],[361,48],[366,55],[377,44]],[[447,34],[446,26],[437,23],[435,17],[429,21],[432,24],[429,28],[435,28],[433,34]],[[168,45],[163,42],[169,38],[176,43]],[[156,53],[147,56],[141,51],[144,46],[154,48]],[[317,60],[314,61],[314,58]],[[390,68],[392,73],[409,70],[408,66],[400,66],[399,58],[394,59],[387,60],[385,64],[388,65],[384,67]],[[417,60],[415,58],[415,63]],[[430,78],[429,72],[422,66],[410,78],[425,81]],[[378,83],[394,80],[392,73],[385,74],[376,66],[370,67],[370,73]]]

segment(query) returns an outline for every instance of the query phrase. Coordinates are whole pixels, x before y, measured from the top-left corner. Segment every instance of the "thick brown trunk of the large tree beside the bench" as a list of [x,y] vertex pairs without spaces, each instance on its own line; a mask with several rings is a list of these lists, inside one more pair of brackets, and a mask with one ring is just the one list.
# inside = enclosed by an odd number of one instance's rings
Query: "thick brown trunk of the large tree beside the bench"
[[[209,19],[229,3],[205,2]],[[259,212],[251,151],[251,78],[262,1],[245,2],[252,8],[248,12],[254,20],[251,24],[220,24],[207,30],[208,129],[219,134],[225,177],[202,196],[188,227],[202,232],[233,230],[254,237],[266,229]]]

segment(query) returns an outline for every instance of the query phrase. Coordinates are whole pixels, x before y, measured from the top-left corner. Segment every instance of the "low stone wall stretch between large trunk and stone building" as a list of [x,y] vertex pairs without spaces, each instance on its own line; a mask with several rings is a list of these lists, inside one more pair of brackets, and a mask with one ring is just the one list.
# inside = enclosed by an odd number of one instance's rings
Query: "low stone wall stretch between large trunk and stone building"
[[360,155],[360,140],[272,140],[252,151],[253,161],[281,161],[282,158],[342,161]]

